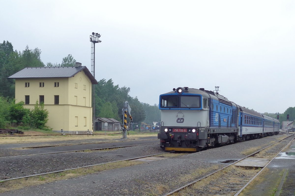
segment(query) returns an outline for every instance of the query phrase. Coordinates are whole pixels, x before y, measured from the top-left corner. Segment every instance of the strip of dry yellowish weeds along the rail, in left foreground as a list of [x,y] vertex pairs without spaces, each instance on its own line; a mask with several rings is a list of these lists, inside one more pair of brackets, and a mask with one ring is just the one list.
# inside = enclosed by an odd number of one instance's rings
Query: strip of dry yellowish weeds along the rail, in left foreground
[[139,165],[144,163],[143,161],[120,161],[115,163],[108,163],[104,165],[97,165],[89,168],[80,168],[75,170],[69,170],[60,173],[47,174],[42,176],[35,176],[26,179],[17,179],[0,182],[0,193],[18,190],[24,187],[33,185],[42,185],[48,182],[55,182],[59,180],[66,180],[69,178],[79,177],[83,175],[93,174],[104,170],[113,170],[121,167],[128,167],[132,165]]

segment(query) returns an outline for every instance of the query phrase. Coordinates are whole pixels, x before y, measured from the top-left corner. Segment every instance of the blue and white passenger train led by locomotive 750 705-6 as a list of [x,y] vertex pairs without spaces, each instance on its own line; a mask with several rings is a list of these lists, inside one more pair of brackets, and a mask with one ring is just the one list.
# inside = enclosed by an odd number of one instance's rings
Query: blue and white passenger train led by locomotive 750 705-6
[[229,101],[204,88],[173,88],[159,97],[160,147],[166,151],[200,151],[237,141],[277,135],[277,119]]

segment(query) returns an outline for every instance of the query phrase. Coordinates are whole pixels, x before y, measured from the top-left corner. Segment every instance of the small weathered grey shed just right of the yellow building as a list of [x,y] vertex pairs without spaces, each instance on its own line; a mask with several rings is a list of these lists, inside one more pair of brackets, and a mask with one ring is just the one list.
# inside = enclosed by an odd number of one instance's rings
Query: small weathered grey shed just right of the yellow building
[[121,130],[121,123],[114,118],[96,118],[95,131],[119,131]]

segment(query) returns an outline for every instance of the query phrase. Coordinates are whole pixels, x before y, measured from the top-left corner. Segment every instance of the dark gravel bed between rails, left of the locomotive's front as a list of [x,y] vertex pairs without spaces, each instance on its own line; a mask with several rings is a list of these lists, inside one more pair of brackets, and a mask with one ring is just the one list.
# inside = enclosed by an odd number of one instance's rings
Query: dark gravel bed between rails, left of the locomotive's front
[[74,152],[0,158],[0,179],[22,177],[116,160],[163,153],[154,145],[119,148],[91,153]]

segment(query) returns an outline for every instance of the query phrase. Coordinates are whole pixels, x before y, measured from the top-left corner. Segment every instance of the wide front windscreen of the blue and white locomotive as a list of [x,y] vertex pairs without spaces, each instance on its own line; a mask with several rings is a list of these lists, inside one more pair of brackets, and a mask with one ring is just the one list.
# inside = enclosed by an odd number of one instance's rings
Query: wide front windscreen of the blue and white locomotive
[[162,108],[201,108],[200,96],[162,96]]

